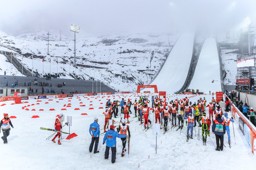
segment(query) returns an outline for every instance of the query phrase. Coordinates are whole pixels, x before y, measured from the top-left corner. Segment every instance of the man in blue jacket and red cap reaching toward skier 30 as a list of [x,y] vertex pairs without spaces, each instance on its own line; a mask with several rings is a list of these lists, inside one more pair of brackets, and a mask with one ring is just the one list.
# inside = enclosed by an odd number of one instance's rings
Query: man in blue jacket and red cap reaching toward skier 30
[[110,125],[110,130],[108,130],[105,133],[105,136],[103,139],[103,145],[106,142],[105,159],[109,158],[109,148],[111,147],[111,151],[112,151],[111,162],[112,163],[115,163],[115,161],[116,161],[116,137],[126,138],[126,135],[120,135],[114,129],[115,129],[115,126]]

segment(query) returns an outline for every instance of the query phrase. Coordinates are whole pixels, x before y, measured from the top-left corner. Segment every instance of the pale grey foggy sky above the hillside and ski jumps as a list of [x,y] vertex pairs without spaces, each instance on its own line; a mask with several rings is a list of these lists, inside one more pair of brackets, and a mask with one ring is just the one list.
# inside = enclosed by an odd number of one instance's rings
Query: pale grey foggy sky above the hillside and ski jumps
[[185,31],[238,31],[245,17],[256,24],[255,0],[8,0],[0,30],[11,35],[81,27],[79,36]]

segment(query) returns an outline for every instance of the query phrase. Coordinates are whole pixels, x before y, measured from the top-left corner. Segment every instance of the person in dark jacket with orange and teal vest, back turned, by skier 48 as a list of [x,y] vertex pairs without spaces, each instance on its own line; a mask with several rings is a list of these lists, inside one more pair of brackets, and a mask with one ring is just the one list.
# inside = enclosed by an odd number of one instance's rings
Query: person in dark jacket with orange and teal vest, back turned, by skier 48
[[223,135],[225,135],[225,132],[225,122],[221,119],[220,114],[218,114],[217,119],[215,119],[212,124],[212,133],[215,134],[217,145],[215,150],[223,150]]

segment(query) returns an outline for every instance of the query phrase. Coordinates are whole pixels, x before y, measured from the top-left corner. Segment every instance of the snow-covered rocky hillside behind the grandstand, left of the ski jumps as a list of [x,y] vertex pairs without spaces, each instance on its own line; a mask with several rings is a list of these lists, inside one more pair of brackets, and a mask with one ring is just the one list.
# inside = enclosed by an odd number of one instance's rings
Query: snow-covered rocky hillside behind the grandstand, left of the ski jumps
[[[58,32],[48,31],[26,33],[13,37],[0,32],[0,44],[15,48],[23,54],[24,65],[32,71],[69,78],[97,79],[121,91],[134,91],[137,85],[148,84],[156,76],[166,57],[180,35],[133,34],[79,38],[76,34],[76,64],[90,65],[90,68],[74,67],[74,41],[71,37],[58,40]],[[71,35],[73,35],[71,33]],[[65,45],[65,47],[58,47]],[[44,69],[42,59],[44,57]],[[17,57],[22,62],[22,56]],[[58,69],[57,69],[58,61]],[[64,64],[63,64],[64,62]],[[102,67],[97,69],[92,67]],[[57,71],[58,70],[58,71]],[[96,74],[95,74],[96,73]]]

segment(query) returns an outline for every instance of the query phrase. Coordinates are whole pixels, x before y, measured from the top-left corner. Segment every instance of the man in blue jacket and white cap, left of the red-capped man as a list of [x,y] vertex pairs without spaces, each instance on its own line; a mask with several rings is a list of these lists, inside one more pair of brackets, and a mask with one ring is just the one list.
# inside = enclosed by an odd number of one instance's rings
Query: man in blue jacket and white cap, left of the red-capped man
[[89,152],[92,151],[93,144],[95,141],[94,145],[94,154],[99,153],[98,151],[98,144],[99,144],[99,138],[100,138],[100,125],[98,124],[98,118],[94,118],[94,122],[91,123],[90,128],[89,128],[89,133],[91,135],[91,144],[89,147]]

